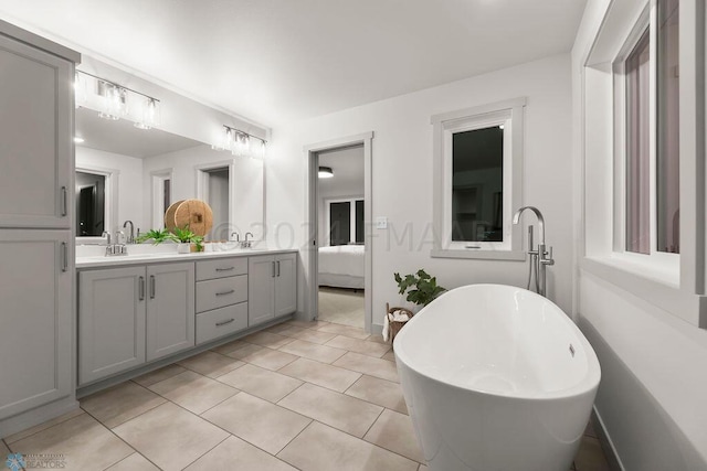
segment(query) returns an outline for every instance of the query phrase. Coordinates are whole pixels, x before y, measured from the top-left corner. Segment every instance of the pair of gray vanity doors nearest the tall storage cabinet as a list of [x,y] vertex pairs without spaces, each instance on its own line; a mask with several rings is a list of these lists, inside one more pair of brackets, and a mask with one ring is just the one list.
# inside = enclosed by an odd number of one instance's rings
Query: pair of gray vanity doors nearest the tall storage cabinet
[[85,270],[78,277],[78,383],[194,345],[194,264]]

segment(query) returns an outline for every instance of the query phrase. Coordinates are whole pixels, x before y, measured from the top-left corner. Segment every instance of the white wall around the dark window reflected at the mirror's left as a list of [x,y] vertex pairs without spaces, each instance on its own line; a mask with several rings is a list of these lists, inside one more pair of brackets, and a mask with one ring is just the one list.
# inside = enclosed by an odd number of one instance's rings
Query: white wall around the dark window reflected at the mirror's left
[[[145,218],[143,211],[143,159],[76,146],[76,168],[116,170],[118,172],[118,202],[114,226],[117,225],[122,229],[123,223],[130,220],[135,224],[136,233],[138,227],[147,228],[149,218]],[[106,231],[112,233],[116,228],[108,228],[106,225]]]

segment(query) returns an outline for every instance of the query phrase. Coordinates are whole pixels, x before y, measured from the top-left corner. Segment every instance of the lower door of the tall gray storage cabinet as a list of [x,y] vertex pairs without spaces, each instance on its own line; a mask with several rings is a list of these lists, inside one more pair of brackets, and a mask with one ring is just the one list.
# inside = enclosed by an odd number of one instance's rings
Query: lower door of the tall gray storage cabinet
[[72,394],[68,231],[0,231],[0,419]]

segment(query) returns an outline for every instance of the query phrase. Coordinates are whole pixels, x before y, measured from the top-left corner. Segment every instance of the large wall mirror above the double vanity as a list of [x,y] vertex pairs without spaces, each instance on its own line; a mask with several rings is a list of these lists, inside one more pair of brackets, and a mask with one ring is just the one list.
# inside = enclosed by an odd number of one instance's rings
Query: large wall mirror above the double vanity
[[263,237],[263,161],[234,158],[211,146],[159,129],[143,130],[128,119],[110,120],[76,109],[76,236],[97,243],[126,221],[146,232],[163,226],[165,211],[198,197],[214,210],[208,239]]

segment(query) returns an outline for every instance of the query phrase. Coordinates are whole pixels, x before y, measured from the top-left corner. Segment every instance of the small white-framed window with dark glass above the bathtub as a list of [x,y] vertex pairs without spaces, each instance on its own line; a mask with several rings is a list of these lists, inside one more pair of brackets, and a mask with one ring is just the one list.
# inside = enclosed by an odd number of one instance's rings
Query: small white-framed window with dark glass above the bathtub
[[525,99],[432,117],[432,256],[523,259],[513,210],[521,206]]

